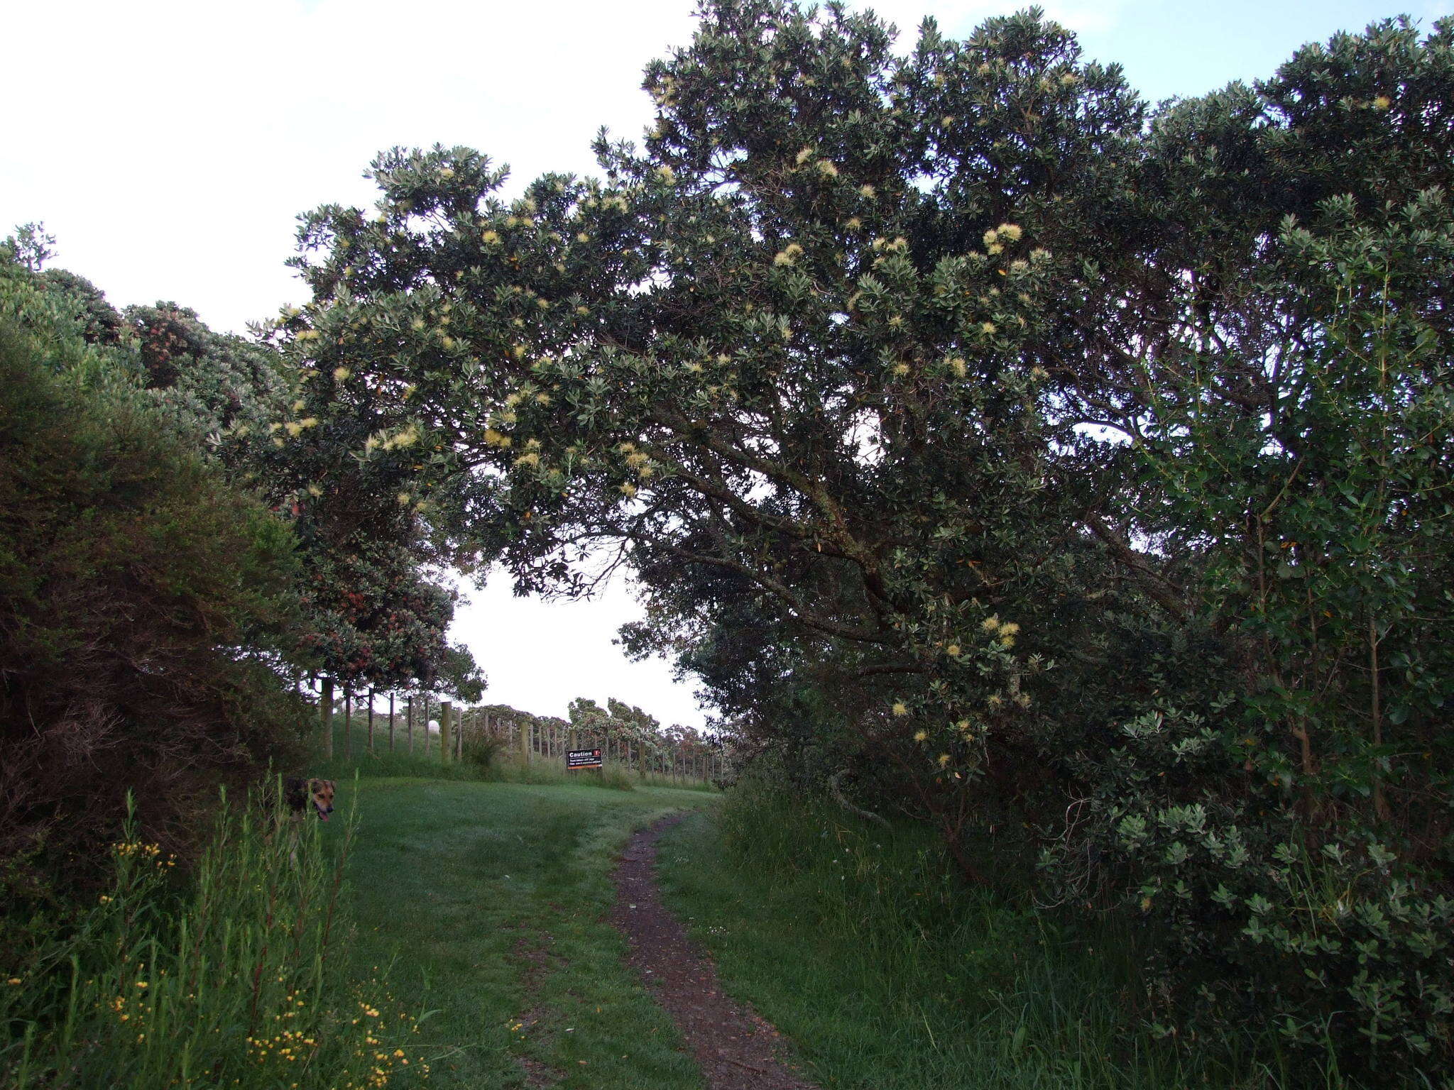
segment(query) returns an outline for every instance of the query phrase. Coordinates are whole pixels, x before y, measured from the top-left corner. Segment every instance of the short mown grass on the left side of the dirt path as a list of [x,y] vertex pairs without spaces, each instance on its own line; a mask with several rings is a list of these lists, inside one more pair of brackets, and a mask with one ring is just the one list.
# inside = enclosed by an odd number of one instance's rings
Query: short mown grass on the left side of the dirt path
[[422,1009],[430,1086],[699,1090],[605,916],[631,831],[705,802],[654,788],[359,780],[355,975],[387,969]]

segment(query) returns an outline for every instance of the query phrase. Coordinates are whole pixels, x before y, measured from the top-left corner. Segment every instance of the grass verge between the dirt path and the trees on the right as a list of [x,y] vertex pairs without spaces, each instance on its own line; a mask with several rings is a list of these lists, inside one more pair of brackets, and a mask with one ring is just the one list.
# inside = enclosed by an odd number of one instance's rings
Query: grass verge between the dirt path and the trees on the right
[[663,894],[727,988],[823,1087],[1280,1087],[1153,1041],[1130,936],[1073,936],[964,889],[928,836],[739,789],[662,839]]

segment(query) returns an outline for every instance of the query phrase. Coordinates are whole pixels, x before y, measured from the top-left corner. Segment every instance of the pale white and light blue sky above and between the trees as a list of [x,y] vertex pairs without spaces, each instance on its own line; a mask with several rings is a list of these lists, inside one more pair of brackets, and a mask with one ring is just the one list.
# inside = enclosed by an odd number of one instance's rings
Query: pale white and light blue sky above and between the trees
[[[996,0],[884,0],[963,36]],[[1448,0],[1047,0],[1086,52],[1147,97],[1269,74],[1300,44]],[[218,330],[300,301],[284,260],[295,217],[371,203],[362,170],[394,144],[467,144],[518,180],[592,170],[601,125],[637,137],[641,68],[692,32],[692,0],[49,0],[4,10],[10,108],[0,122],[0,233],[39,219],[57,265],[116,305],[173,299]],[[28,100],[22,105],[22,94]],[[699,725],[664,663],[625,663],[624,587],[590,603],[513,599],[496,581],[461,610],[491,702],[564,712],[616,696]]]

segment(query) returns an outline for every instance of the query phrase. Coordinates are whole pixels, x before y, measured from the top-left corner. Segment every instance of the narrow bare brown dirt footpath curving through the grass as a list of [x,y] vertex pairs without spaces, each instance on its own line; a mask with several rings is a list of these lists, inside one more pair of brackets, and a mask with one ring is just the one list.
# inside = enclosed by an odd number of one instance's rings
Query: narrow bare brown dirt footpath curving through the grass
[[611,921],[627,936],[627,962],[672,1016],[708,1090],[816,1090],[778,1059],[778,1030],[723,994],[712,959],[662,904],[653,873],[656,841],[682,817],[662,818],[632,836],[615,869]]

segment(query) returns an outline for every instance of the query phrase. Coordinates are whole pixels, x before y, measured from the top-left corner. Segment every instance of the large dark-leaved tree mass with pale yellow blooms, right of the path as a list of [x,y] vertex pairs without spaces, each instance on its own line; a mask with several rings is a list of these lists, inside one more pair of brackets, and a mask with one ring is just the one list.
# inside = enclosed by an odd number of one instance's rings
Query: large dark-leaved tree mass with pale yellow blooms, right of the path
[[[310,405],[522,590],[631,564],[630,648],[795,775],[893,769],[965,873],[971,830],[1038,825],[1061,894],[1234,952],[1246,1009],[1320,1003],[1316,945],[1339,998],[1294,1039],[1345,1003],[1447,1049],[1413,981],[1448,903],[1399,898],[1445,836],[1451,42],[1389,22],[1149,116],[1035,13],[896,57],[840,4],[720,0],[602,179],[506,202],[394,150],[375,215],[310,215]],[[1377,875],[1374,984],[1301,917],[1264,956],[1304,857]]]

